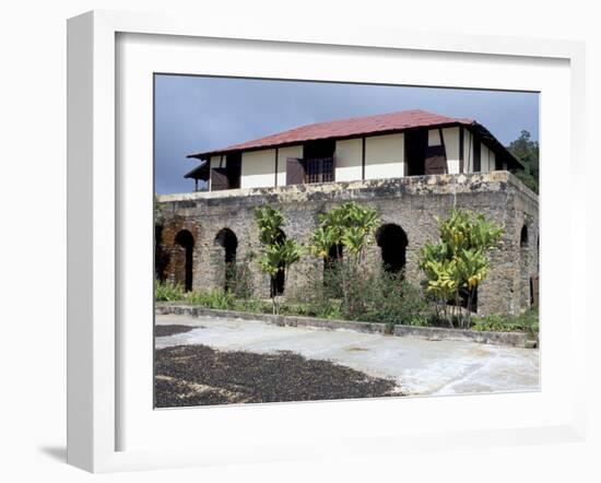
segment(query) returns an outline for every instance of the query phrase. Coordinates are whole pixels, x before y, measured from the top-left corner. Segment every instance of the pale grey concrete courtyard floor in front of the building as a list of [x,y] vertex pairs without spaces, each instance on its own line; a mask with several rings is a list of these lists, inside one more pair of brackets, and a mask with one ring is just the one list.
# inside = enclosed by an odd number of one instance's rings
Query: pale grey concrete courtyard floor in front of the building
[[161,326],[189,332],[157,337],[156,349],[202,344],[221,351],[292,351],[375,377],[392,378],[408,396],[539,390],[539,351],[461,341],[279,327],[261,321],[157,315]]

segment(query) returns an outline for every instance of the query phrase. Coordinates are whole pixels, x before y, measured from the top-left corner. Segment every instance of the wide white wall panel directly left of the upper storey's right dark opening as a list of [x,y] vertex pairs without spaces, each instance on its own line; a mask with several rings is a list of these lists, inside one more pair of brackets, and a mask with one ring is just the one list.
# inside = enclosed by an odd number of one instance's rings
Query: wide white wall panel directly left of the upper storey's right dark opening
[[365,179],[399,178],[404,175],[404,134],[365,139]]

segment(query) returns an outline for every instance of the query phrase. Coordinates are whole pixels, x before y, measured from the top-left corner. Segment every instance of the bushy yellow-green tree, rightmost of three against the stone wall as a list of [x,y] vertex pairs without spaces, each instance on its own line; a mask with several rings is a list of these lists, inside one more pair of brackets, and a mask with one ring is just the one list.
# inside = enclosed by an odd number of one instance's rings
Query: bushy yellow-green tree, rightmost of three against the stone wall
[[473,297],[490,270],[486,255],[500,246],[504,229],[483,214],[473,216],[459,209],[451,210],[447,220],[437,221],[439,239],[426,244],[420,257],[426,293],[435,301],[439,318],[451,327],[455,320],[460,327],[469,327]]

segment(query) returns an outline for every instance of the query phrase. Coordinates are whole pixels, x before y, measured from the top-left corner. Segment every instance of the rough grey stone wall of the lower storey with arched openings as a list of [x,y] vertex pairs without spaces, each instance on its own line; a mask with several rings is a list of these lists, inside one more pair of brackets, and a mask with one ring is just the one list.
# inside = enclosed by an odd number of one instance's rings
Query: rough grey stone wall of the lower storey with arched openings
[[[504,245],[492,252],[492,270],[478,294],[478,309],[486,314],[519,314],[529,307],[530,276],[538,271],[538,197],[507,172],[487,174],[415,176],[397,179],[296,185],[279,188],[236,189],[158,197],[165,217],[162,246],[167,252],[166,278],[180,281],[181,261],[174,244],[177,233],[188,229],[193,245],[193,288],[217,288],[223,284],[223,248],[215,243],[217,233],[227,227],[238,240],[237,259],[259,251],[254,210],[261,204],[278,205],[284,213],[284,232],[307,243],[318,225],[318,214],[345,201],[374,207],[382,224],[394,223],[408,236],[405,273],[419,283],[420,249],[438,237],[435,215],[445,217],[452,205],[484,213],[505,226]],[[526,224],[528,237],[520,234]],[[367,250],[366,260],[379,263],[380,248]],[[257,296],[269,296],[269,279],[251,263]],[[306,255],[288,271],[285,293],[302,291],[313,271],[322,271],[321,262]]]

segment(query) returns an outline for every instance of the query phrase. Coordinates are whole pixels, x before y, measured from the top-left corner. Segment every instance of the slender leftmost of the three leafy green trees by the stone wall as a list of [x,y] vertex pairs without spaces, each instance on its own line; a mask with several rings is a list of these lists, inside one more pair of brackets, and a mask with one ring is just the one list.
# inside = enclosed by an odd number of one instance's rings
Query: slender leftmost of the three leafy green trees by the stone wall
[[261,243],[261,252],[258,259],[259,268],[270,275],[273,314],[279,315],[280,299],[274,290],[275,280],[280,274],[285,278],[288,268],[300,259],[303,247],[294,239],[283,236],[284,215],[280,210],[270,205],[257,208],[255,220],[259,228],[259,241]]

